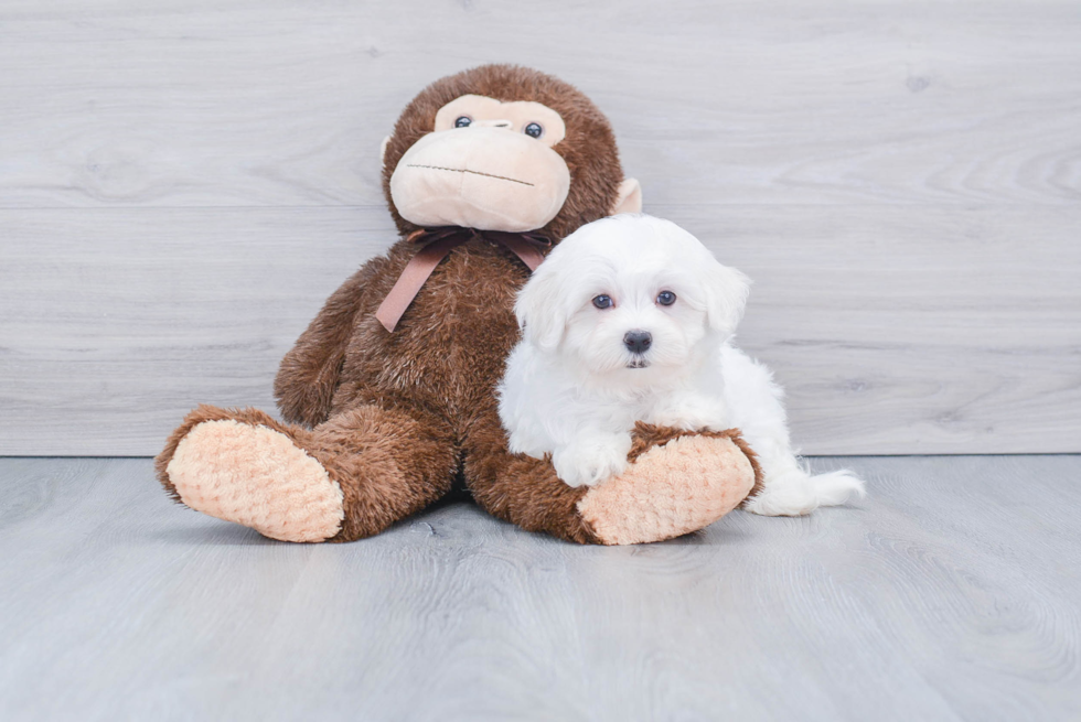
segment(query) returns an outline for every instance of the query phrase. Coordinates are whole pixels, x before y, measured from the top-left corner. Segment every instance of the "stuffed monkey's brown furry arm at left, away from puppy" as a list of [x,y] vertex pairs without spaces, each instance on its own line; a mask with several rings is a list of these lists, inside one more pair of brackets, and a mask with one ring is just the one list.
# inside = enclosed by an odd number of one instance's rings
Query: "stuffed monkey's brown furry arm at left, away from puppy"
[[315,427],[330,414],[364,288],[375,266],[368,262],[342,283],[281,359],[274,395],[287,421]]

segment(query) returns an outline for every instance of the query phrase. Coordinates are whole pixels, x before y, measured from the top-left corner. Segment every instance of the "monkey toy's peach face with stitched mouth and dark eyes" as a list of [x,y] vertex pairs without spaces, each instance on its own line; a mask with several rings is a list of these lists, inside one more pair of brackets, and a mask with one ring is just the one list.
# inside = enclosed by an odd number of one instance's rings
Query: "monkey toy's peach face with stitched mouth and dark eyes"
[[398,161],[394,205],[418,226],[540,228],[570,190],[567,163],[553,150],[566,131],[559,114],[539,103],[456,98]]

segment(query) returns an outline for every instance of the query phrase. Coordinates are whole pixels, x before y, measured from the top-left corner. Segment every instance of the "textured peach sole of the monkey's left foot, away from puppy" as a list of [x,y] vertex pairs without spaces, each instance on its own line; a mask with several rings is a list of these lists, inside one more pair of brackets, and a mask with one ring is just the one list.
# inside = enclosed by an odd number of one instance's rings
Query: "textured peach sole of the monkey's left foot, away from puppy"
[[286,434],[232,419],[204,421],[165,468],[180,500],[281,541],[323,541],[344,519],[342,489]]

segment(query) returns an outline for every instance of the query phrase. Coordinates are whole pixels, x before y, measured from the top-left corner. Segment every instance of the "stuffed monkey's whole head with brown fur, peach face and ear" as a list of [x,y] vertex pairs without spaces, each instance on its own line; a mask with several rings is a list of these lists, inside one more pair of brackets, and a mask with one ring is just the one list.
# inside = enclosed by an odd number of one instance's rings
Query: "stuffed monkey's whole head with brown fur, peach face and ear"
[[540,230],[555,240],[641,209],[608,120],[574,87],[490,65],[442,78],[403,111],[383,144],[398,227]]

